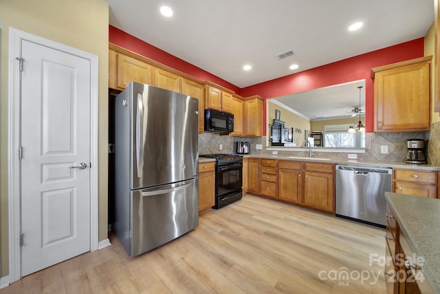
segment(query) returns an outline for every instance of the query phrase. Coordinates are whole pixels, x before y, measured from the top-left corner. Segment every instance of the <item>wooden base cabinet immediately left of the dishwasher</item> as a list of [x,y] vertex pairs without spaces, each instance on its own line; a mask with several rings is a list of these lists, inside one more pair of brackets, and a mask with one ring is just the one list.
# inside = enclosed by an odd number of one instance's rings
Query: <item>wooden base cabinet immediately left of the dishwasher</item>
[[304,200],[307,207],[335,212],[335,165],[304,162]]

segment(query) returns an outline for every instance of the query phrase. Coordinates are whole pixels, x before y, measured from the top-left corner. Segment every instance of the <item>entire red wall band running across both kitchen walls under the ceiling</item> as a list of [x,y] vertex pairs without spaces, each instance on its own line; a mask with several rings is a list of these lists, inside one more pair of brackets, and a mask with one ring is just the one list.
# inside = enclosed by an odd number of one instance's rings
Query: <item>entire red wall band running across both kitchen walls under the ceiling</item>
[[[227,87],[245,97],[260,95],[263,98],[272,98],[318,87],[365,79],[366,132],[373,132],[374,92],[373,79],[370,77],[371,68],[423,56],[423,38],[419,38],[335,63],[315,67],[311,70],[299,72],[298,74],[283,76],[282,78],[276,78],[272,81],[240,89],[236,87],[236,85],[232,85],[218,76],[214,76],[195,65],[178,59],[176,56],[168,54],[111,25],[109,26],[109,42],[164,65],[168,65],[169,67],[173,67],[191,76],[195,76],[201,81],[212,81],[213,83]],[[265,103],[263,103],[263,126],[266,125],[266,116],[264,114]],[[266,134],[266,129],[266,127],[263,127],[263,135]]]

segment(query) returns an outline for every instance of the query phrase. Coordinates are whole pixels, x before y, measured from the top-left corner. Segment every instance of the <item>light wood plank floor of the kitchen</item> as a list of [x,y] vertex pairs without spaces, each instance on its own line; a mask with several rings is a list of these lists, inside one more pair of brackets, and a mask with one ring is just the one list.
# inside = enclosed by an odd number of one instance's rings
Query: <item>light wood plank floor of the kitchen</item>
[[[369,264],[384,256],[383,229],[256,196],[201,214],[194,231],[136,258],[110,240],[0,293],[386,293],[383,267]],[[368,273],[379,280],[362,282]]]

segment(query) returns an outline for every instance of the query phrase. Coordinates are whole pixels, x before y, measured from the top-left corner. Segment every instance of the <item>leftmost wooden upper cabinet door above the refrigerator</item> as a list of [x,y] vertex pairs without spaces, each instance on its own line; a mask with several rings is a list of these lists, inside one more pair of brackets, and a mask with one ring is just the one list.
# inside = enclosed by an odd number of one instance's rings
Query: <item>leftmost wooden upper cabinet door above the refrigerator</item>
[[153,65],[118,54],[118,88],[125,89],[131,81],[153,85]]

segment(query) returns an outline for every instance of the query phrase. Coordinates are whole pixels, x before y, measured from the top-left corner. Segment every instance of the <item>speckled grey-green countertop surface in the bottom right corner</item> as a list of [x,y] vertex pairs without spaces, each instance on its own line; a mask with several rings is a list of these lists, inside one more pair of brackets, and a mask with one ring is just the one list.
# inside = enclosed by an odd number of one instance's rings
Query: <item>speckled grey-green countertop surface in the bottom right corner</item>
[[440,200],[386,192],[385,198],[434,293],[440,293]]

